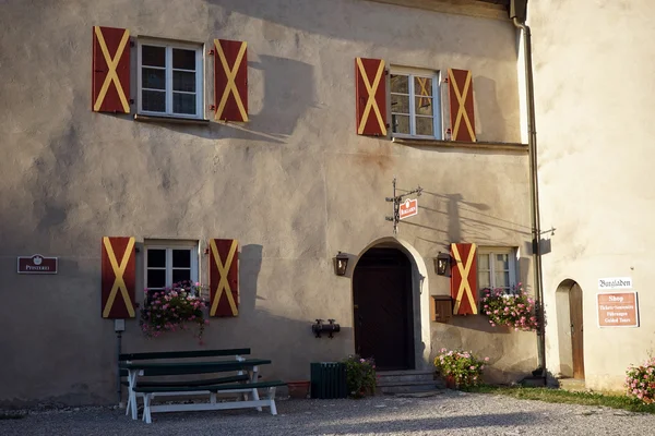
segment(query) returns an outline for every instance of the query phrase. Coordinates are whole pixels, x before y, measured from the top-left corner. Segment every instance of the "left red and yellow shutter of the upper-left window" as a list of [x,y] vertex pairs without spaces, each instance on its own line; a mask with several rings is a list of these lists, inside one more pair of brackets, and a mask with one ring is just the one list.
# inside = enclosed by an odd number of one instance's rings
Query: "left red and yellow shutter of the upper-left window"
[[93,27],[92,108],[130,113],[130,32]]

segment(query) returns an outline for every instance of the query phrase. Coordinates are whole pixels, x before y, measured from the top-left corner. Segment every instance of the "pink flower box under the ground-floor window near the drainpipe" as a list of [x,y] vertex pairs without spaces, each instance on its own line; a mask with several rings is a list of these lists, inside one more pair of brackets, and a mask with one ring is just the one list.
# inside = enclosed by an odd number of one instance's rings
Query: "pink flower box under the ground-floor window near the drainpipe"
[[485,289],[483,293],[483,313],[489,317],[489,324],[509,326],[514,330],[537,331],[535,301],[525,294],[523,287],[507,294],[502,289]]

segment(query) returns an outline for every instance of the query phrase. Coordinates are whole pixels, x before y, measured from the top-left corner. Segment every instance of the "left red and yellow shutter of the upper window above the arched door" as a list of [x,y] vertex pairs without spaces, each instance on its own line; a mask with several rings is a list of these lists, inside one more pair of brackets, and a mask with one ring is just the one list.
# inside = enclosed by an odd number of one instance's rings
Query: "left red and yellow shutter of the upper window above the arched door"
[[382,59],[355,59],[357,134],[386,136],[386,77]]

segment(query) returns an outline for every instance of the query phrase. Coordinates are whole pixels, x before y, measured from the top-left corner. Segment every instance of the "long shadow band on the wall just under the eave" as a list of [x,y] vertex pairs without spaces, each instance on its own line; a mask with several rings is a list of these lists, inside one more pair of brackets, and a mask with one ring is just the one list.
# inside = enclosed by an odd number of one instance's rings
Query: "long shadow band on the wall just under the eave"
[[[337,40],[360,41],[395,49],[414,50],[420,41],[429,41],[437,47],[457,47],[461,55],[485,59],[515,61],[516,56],[513,45],[510,44],[507,45],[507,50],[489,50],[489,46],[485,44],[462,44],[462,35],[476,35],[480,28],[485,28],[486,33],[491,35],[498,33],[499,27],[504,27],[504,23],[437,14],[391,4],[346,0],[285,0],[265,3],[210,0],[209,12],[215,17],[213,28],[234,26],[233,15],[235,20],[241,20],[239,14],[262,20],[262,33],[266,39],[275,39],[274,36],[278,34],[272,27],[286,27],[300,33],[300,37],[305,36],[302,34],[318,34]],[[451,26],[434,25],[437,16],[442,17],[438,24],[456,21],[460,32],[452,32]],[[389,32],[390,28],[394,32]]]

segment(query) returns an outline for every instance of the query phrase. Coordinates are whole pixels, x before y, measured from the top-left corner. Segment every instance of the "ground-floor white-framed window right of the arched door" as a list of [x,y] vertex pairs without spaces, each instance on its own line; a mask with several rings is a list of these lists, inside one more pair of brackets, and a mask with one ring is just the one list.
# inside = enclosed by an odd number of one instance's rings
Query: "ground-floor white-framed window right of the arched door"
[[511,247],[478,249],[478,289],[502,289],[511,294],[516,287],[516,251]]

